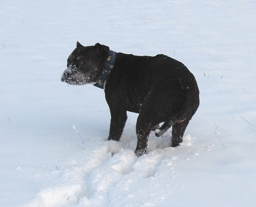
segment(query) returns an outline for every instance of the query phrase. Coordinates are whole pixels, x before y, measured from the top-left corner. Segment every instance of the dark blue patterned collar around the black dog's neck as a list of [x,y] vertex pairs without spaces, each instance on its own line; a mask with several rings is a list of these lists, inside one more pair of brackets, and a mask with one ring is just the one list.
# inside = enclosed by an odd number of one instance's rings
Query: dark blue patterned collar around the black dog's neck
[[100,75],[100,77],[98,78],[98,82],[96,82],[94,86],[104,89],[104,84],[106,82],[108,74],[111,72],[111,69],[113,68],[116,56],[117,53],[115,51],[109,50],[109,57],[104,64],[102,74]]

